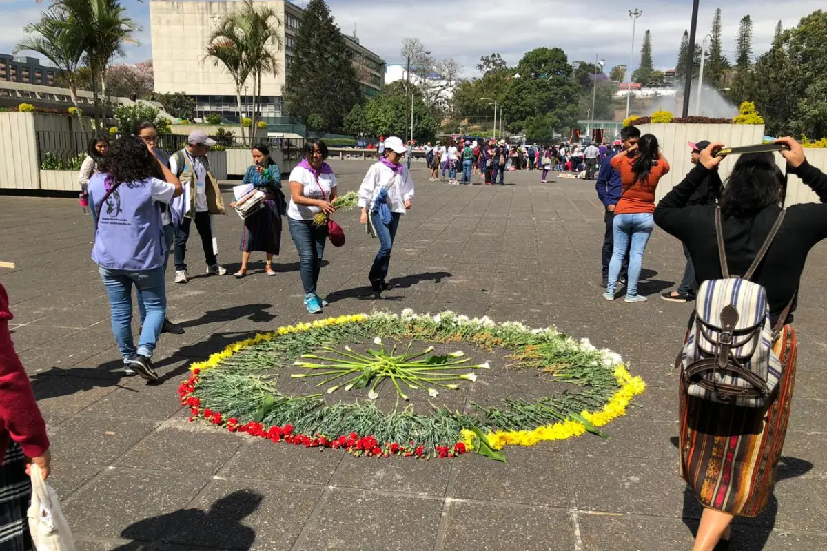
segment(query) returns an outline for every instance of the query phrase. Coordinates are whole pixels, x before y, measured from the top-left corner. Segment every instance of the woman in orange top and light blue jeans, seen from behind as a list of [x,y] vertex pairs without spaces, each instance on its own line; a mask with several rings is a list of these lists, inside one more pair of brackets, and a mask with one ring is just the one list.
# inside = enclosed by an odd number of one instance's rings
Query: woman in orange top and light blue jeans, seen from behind
[[643,251],[655,228],[655,189],[669,172],[669,163],[658,149],[657,138],[646,134],[637,145],[612,157],[611,166],[620,173],[623,192],[614,207],[614,250],[609,262],[609,286],[603,297],[614,301],[620,267],[629,249],[629,282],[626,302],[645,302],[638,295],[638,279],[643,266]]

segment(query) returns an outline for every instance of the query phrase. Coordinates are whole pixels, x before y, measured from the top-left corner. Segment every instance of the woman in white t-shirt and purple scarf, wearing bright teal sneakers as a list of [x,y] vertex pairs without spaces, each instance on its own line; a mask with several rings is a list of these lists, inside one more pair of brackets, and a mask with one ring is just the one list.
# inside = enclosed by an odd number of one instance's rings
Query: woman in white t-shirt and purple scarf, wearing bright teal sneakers
[[290,236],[299,251],[299,268],[304,286],[304,304],[311,314],[320,314],[327,301],[316,294],[318,274],[322,269],[327,225],[315,226],[313,216],[318,212],[331,214],[336,207],[336,175],[327,159],[327,145],[322,140],[308,140],[304,145],[304,159],[290,173],[290,205],[287,218]]

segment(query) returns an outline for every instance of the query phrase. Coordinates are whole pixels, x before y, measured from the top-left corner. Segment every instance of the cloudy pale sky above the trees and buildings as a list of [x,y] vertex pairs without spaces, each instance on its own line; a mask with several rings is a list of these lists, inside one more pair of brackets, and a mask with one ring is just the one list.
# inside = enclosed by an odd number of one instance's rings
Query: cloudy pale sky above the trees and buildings
[[[122,0],[143,31],[140,46],[127,46],[127,62],[152,57],[149,5]],[[356,24],[361,43],[381,55],[388,64],[402,63],[399,41],[418,36],[437,59],[451,57],[466,67],[466,76],[476,74],[481,55],[499,52],[516,64],[528,50],[558,46],[570,60],[606,60],[608,68],[629,62],[632,21],[629,10],[643,10],[635,37],[634,64],[638,63],[643,31],[652,31],[653,55],[659,69],[674,67],[683,31],[690,25],[691,0],[629,0],[629,2],[569,2],[557,0],[327,0],[338,25],[352,34]],[[302,6],[302,0],[295,0]],[[698,41],[710,31],[716,7],[723,8],[724,53],[734,59],[735,39],[741,17],[753,19],[753,48],[758,55],[767,50],[776,22],[796,26],[801,17],[824,8],[824,0],[729,0],[700,2]],[[481,8],[481,6],[485,6]],[[22,26],[36,21],[44,4],[35,0],[0,0],[0,52],[11,53],[24,35]]]

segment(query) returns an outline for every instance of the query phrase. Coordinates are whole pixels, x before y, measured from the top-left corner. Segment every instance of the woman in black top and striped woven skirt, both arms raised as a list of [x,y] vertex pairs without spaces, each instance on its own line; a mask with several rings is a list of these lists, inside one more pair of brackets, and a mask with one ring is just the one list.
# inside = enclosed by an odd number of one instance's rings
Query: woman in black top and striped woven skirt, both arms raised
[[[827,176],[807,163],[795,140],[778,141],[790,148],[782,151],[787,172],[796,174],[827,202]],[[713,150],[723,146],[711,144],[702,151],[700,163],[662,199],[654,215],[658,226],[689,249],[698,283],[723,278],[723,270],[715,238],[715,206],[691,207],[688,203],[720,163]],[[743,154],[738,159],[720,197],[724,250],[732,273],[747,272],[781,212],[785,194],[786,177],[772,153]],[[733,517],[760,514],[772,496],[796,380],[793,299],[807,254],[825,238],[827,205],[787,208],[781,229],[752,278],[767,291],[772,325],[786,316],[774,347],[781,359],[782,378],[766,406],[734,406],[691,397],[681,380],[681,475],[704,507],[695,551],[727,549]]]

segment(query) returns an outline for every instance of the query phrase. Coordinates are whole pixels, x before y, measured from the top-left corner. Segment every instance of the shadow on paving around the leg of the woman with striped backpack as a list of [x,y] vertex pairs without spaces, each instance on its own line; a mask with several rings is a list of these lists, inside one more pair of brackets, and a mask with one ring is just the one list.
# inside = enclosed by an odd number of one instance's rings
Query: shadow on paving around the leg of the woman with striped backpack
[[[678,438],[673,436],[672,445],[676,448],[679,445]],[[776,483],[787,478],[800,477],[813,468],[813,463],[804,459],[791,458],[782,455],[778,462]],[[703,508],[698,502],[695,491],[686,487],[683,492],[683,523],[692,533],[694,538],[698,533],[698,519]],[[760,551],[764,549],[767,540],[775,527],[778,515],[778,500],[773,494],[767,508],[755,518],[736,517],[732,523],[732,535],[730,536],[730,551]]]

